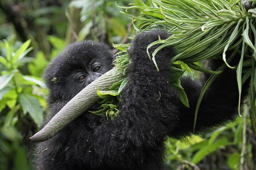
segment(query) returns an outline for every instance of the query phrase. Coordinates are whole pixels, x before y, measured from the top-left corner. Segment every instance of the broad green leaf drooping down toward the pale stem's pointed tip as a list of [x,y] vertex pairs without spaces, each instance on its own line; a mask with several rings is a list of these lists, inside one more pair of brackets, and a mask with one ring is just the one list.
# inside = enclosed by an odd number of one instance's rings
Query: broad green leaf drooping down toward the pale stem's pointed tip
[[42,104],[38,99],[27,94],[20,94],[18,100],[24,112],[28,112],[35,124],[41,127],[44,120],[44,113]]

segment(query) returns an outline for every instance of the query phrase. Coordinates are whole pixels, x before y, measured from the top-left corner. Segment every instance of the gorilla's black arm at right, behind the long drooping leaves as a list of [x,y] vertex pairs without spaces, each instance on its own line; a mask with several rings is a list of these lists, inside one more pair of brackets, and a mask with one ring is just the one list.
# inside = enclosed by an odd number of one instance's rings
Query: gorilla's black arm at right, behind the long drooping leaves
[[[227,56],[230,56],[232,52],[228,51]],[[238,64],[239,59],[240,55],[236,53],[232,60],[232,65]],[[213,59],[209,60],[208,67],[215,71],[221,64],[223,64],[222,60]],[[193,81],[189,77],[181,80],[182,87],[189,99],[190,108],[177,103],[177,107],[179,108],[179,123],[172,133],[169,133],[170,136],[186,136],[193,132],[195,108],[203,85],[208,78],[209,75],[203,74],[202,79],[197,81]],[[244,102],[247,96],[248,87],[249,81],[246,81],[242,87],[242,102]],[[198,111],[195,133],[204,131],[206,127],[212,127],[234,120],[239,115],[238,104],[239,91],[236,81],[236,71],[226,67],[212,82],[203,96]]]

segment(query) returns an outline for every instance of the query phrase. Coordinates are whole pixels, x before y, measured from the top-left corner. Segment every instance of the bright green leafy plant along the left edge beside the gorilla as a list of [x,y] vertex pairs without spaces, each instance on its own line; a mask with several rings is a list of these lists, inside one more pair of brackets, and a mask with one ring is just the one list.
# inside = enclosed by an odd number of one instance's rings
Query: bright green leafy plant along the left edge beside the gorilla
[[21,66],[31,61],[25,57],[33,49],[29,44],[30,40],[15,50],[7,40],[0,42],[4,56],[0,56],[0,169],[30,168],[26,157],[32,145],[28,137],[43,122],[46,102],[41,74],[32,69],[30,75],[22,73],[25,69]]

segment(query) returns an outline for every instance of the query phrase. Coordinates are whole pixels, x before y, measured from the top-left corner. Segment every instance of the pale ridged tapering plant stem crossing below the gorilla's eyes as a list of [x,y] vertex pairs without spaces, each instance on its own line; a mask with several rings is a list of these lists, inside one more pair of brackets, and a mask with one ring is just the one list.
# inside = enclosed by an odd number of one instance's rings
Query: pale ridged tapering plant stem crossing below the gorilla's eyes
[[43,142],[52,138],[62,128],[87,111],[98,100],[97,89],[101,91],[108,90],[113,83],[123,77],[122,71],[113,68],[101,77],[90,83],[82,91],[71,99],[38,133],[29,139],[35,142]]

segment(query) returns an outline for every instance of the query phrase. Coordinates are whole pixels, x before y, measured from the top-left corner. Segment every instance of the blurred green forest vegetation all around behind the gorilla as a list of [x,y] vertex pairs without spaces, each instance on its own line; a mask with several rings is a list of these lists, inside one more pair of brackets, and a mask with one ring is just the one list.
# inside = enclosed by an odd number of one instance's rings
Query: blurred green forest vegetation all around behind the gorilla
[[[35,142],[29,137],[47,115],[43,71],[49,61],[75,41],[128,43],[135,30],[119,6],[132,2],[1,0],[0,170],[34,169]],[[140,14],[135,9],[128,13]],[[256,136],[248,106],[236,122],[203,136],[168,139],[165,161],[170,170],[256,169]]]

